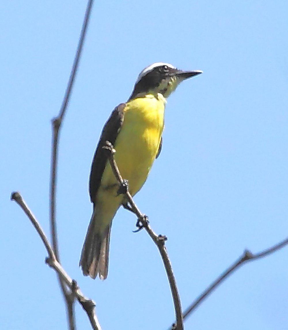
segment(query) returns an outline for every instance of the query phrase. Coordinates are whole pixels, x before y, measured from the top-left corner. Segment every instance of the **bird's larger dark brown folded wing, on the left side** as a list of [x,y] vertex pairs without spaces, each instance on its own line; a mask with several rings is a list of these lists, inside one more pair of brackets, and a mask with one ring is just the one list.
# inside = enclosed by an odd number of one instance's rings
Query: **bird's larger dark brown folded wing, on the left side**
[[95,150],[89,182],[90,199],[93,203],[95,202],[95,197],[107,162],[107,153],[102,147],[105,146],[106,141],[110,141],[112,145],[114,145],[123,123],[125,106],[125,103],[121,103],[112,111],[111,116],[103,128],[98,146]]

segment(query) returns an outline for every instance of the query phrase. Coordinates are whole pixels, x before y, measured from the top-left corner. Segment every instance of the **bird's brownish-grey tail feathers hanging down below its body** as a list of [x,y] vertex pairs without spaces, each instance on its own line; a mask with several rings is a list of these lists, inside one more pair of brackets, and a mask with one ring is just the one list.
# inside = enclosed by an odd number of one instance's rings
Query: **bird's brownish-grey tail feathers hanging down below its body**
[[105,230],[95,226],[95,213],[89,223],[85,241],[83,244],[79,266],[85,276],[89,275],[93,279],[99,274],[101,280],[105,280],[108,275],[109,242],[111,225]]

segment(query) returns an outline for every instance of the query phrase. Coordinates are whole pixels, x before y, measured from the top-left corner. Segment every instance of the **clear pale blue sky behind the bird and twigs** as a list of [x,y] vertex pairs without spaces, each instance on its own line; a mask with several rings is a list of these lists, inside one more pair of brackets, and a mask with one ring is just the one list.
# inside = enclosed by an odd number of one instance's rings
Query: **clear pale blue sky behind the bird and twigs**
[[[86,1],[6,1],[1,11],[1,272],[3,329],[65,329],[46,251],[10,202],[19,190],[48,233],[50,120],[66,88]],[[120,210],[104,282],[78,267],[91,215],[88,176],[102,126],[139,72],[164,61],[203,70],[168,99],[163,149],[135,200],[167,248],[183,308],[244,248],[288,233],[286,1],[96,1],[60,136],[61,260],[97,302],[104,330],[166,329],[174,311],[160,256]],[[288,248],[243,266],[186,329],[284,330]],[[89,329],[76,305],[78,329]]]

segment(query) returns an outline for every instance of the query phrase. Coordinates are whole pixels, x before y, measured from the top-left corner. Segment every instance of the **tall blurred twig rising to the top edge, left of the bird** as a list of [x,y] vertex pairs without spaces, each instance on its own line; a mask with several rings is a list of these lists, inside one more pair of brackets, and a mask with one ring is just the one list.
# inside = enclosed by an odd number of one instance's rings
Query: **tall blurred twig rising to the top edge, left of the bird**
[[[50,174],[50,229],[51,229],[51,236],[52,236],[52,244],[56,259],[60,262],[59,259],[59,249],[58,249],[58,240],[57,240],[57,228],[56,228],[56,219],[55,219],[55,208],[56,208],[56,180],[57,180],[57,163],[58,163],[58,138],[59,138],[59,131],[60,127],[66,113],[67,105],[70,99],[73,83],[75,80],[75,75],[78,69],[79,60],[81,51],[83,49],[83,43],[87,32],[88,21],[91,13],[93,5],[93,0],[89,0],[81,28],[80,39],[78,42],[78,47],[76,51],[76,55],[74,58],[72,70],[70,73],[69,81],[67,84],[67,88],[65,91],[65,95],[63,98],[63,102],[59,111],[58,117],[52,120],[52,129],[53,129],[53,142],[52,142],[52,152],[51,152],[51,174]],[[74,304],[74,295],[71,294],[61,279],[59,278],[59,283],[63,292],[63,295],[66,300],[67,306],[67,314],[69,320],[70,330],[75,329],[75,320],[74,320],[74,311],[73,311],[73,304]]]

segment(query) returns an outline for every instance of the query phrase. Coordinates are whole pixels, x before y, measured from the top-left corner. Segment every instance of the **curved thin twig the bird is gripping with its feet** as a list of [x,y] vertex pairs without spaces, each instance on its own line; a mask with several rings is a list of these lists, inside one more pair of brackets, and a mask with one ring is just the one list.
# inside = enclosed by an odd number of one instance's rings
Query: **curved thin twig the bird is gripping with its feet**
[[175,280],[175,277],[173,274],[171,262],[168,257],[167,249],[165,247],[165,241],[167,241],[167,237],[162,236],[162,235],[157,235],[151,229],[151,227],[149,225],[148,217],[146,215],[142,214],[141,211],[139,210],[139,208],[137,207],[137,205],[134,203],[133,198],[128,190],[127,182],[125,180],[123,180],[123,178],[119,172],[118,166],[116,164],[116,161],[114,158],[114,153],[116,152],[116,150],[113,148],[113,145],[109,141],[106,141],[106,146],[103,148],[106,149],[108,152],[109,162],[111,164],[113,174],[114,174],[116,180],[120,184],[119,193],[122,193],[126,196],[128,202],[130,204],[129,210],[131,212],[133,212],[138,218],[137,226],[138,226],[139,230],[142,228],[145,228],[145,230],[147,231],[147,233],[149,234],[149,236],[151,237],[151,239],[153,240],[153,242],[156,244],[157,248],[159,249],[159,252],[161,254],[161,257],[162,257],[162,260],[164,263],[164,267],[166,270],[166,274],[167,274],[167,277],[169,280],[170,289],[171,289],[173,302],[174,302],[176,323],[173,324],[173,329],[183,330],[184,327],[183,327],[183,318],[182,318],[180,297],[179,297],[179,293],[178,293],[178,289],[177,289],[177,285],[176,285],[176,280]]

